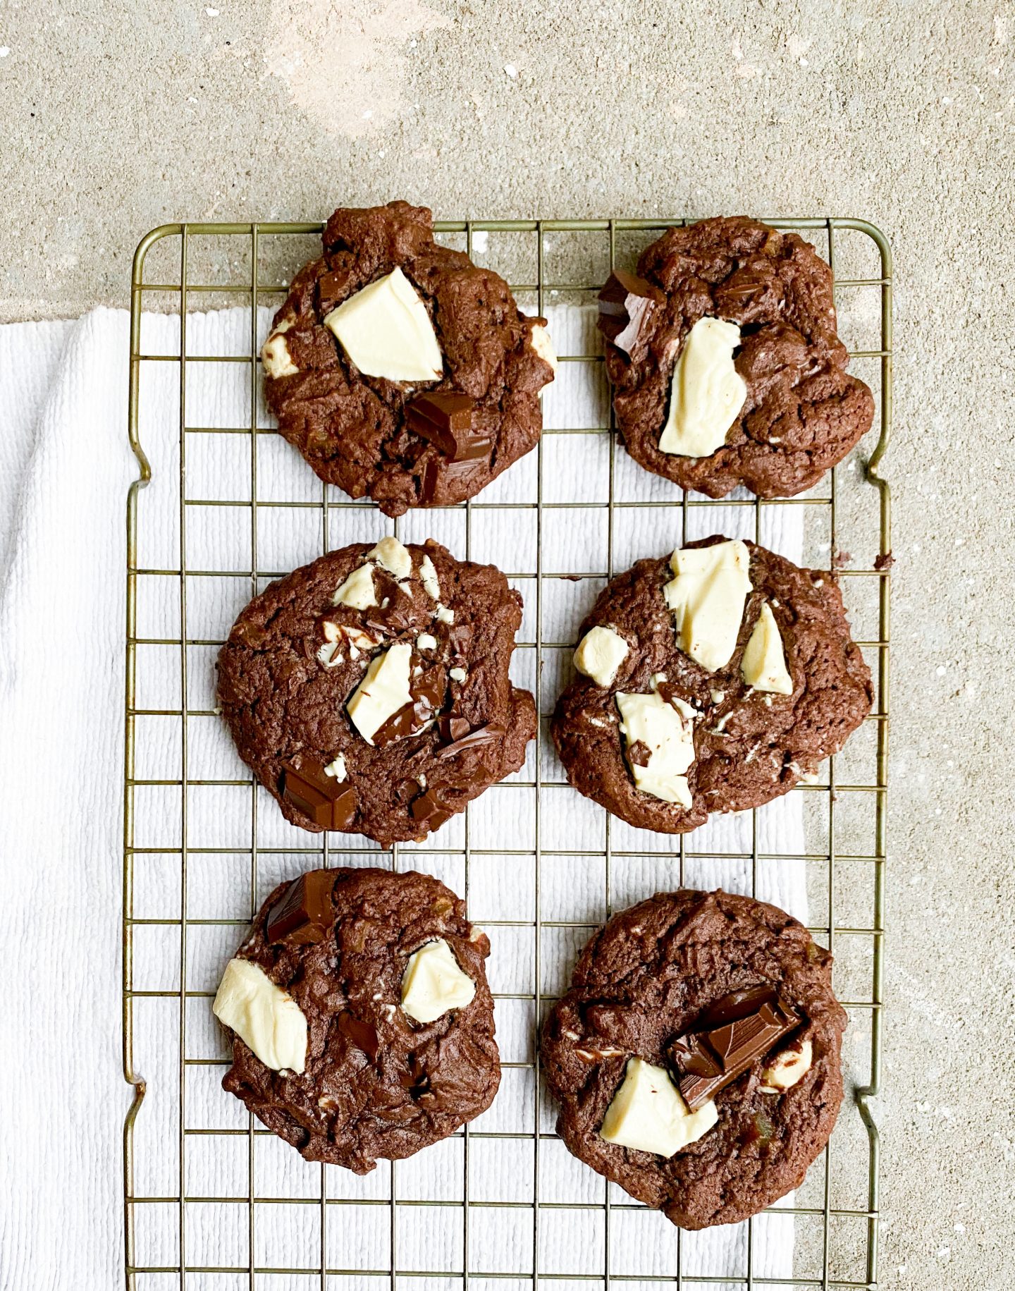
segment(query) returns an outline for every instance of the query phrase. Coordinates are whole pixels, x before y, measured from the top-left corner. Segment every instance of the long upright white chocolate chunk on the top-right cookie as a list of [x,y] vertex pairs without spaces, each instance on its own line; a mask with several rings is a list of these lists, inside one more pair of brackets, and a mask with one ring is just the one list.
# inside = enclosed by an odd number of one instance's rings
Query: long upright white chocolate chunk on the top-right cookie
[[740,328],[722,319],[699,319],[684,341],[670,386],[666,425],[659,436],[664,453],[710,457],[726,443],[748,387],[733,367]]

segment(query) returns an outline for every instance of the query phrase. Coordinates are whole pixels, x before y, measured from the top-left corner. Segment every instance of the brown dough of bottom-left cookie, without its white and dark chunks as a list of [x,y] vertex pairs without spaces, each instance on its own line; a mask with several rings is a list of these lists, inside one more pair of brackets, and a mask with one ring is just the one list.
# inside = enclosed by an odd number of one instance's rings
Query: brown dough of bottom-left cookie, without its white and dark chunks
[[[307,1161],[358,1175],[453,1133],[493,1101],[500,1083],[486,935],[465,902],[427,874],[336,869],[331,918],[311,945],[269,940],[269,896],[238,951],[287,991],[307,1021],[301,1074],[274,1072],[239,1038],[222,1087]],[[475,994],[420,1024],[400,1007],[405,964],[440,939]]]

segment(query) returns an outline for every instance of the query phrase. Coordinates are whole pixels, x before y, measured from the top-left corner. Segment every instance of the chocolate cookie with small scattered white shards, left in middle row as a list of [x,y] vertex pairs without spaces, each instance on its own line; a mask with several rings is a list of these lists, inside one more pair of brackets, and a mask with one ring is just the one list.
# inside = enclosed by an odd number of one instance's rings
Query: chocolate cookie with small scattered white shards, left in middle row
[[222,715],[294,825],[418,840],[524,762],[520,622],[492,565],[433,541],[355,544],[247,605],[218,656]]

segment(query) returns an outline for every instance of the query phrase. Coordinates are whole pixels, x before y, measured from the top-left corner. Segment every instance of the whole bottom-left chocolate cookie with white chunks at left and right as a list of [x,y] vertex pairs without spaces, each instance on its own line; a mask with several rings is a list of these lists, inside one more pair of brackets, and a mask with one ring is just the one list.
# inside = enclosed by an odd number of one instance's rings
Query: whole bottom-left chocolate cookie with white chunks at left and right
[[497,1092],[488,954],[465,902],[427,874],[280,884],[216,995],[232,1034],[222,1088],[307,1161],[364,1175],[411,1157]]

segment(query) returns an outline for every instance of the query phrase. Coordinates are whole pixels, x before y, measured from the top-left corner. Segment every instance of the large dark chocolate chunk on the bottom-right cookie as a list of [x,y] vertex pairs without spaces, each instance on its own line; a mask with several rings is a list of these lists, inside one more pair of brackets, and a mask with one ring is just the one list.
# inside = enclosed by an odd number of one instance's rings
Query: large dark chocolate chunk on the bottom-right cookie
[[678,1035],[668,1050],[678,1072],[677,1087],[690,1110],[697,1112],[732,1084],[801,1021],[767,988],[732,991],[717,1001],[699,1021],[699,1029]]

